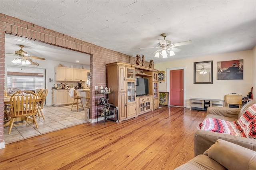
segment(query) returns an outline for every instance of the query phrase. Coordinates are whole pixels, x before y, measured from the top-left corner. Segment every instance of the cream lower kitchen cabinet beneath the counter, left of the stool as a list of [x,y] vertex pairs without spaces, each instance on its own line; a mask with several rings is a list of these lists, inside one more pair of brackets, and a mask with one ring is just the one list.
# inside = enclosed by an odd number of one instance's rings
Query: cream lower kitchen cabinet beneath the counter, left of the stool
[[54,106],[71,105],[74,99],[70,97],[69,90],[53,90],[52,104]]

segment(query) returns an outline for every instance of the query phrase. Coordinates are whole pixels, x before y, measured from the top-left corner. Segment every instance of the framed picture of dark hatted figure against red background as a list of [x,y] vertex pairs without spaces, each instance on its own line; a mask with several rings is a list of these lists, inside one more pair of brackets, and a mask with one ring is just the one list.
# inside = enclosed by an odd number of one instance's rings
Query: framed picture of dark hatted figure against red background
[[217,62],[217,80],[244,79],[244,60],[230,60]]

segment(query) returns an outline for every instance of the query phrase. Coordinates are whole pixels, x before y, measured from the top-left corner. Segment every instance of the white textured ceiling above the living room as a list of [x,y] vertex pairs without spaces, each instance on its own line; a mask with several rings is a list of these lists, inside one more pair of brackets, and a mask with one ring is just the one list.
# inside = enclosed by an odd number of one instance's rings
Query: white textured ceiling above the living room
[[[127,55],[144,55],[146,61],[153,59],[154,63],[243,51],[256,45],[254,0],[1,0],[0,5],[3,14]],[[194,43],[177,47],[181,49],[179,53],[164,59],[154,57],[154,48],[139,49],[158,47],[158,39],[163,39],[160,36],[162,33],[167,33],[166,40],[172,43],[187,40],[193,40]],[[33,42],[30,45],[29,48],[33,48]],[[36,45],[34,49],[37,49]],[[17,50],[16,45],[12,47],[14,51]],[[10,48],[6,47],[8,50]],[[29,48],[25,50],[28,53]],[[52,51],[51,48],[44,51],[36,54],[35,50],[33,55],[46,59],[52,57],[52,53],[46,52]]]

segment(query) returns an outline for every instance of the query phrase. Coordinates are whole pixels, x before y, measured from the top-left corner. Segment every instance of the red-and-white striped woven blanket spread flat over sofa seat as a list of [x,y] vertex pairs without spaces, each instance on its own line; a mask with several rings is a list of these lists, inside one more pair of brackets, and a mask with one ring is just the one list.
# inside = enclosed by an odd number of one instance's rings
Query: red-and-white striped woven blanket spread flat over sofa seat
[[207,117],[199,124],[198,130],[207,130],[212,132],[231,134],[234,136],[246,137],[241,127],[235,121],[229,122],[221,119]]

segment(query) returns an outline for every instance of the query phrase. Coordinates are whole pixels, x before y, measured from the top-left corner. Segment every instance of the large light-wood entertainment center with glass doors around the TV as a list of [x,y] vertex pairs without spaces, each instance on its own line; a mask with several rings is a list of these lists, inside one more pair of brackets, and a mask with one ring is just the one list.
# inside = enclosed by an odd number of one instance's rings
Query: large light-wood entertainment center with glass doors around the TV
[[[131,63],[106,64],[108,88],[115,91],[118,121],[158,109],[158,70]],[[136,96],[136,78],[148,79],[148,95]],[[109,97],[110,103],[113,99]]]

